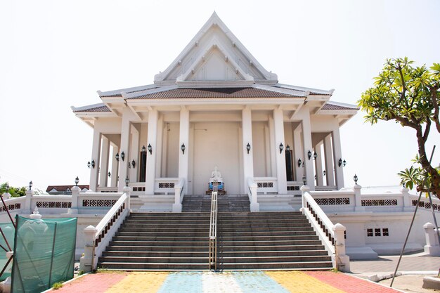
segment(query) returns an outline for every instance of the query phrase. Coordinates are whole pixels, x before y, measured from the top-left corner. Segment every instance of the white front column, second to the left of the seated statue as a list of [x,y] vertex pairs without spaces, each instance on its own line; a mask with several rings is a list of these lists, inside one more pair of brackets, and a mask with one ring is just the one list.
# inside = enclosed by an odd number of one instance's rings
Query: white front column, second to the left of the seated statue
[[148,145],[151,145],[152,153],[147,146],[147,174],[145,178],[145,193],[154,195],[155,175],[156,175],[156,155],[157,155],[157,110],[148,111]]

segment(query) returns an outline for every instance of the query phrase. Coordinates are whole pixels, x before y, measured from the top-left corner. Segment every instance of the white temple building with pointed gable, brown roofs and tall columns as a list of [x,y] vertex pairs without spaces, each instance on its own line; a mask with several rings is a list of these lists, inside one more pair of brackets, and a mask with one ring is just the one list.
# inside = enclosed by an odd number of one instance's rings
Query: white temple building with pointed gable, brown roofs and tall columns
[[257,184],[259,211],[304,183],[344,187],[339,127],[358,108],[332,93],[278,83],[214,13],[153,84],[98,91],[102,103],[72,110],[93,127],[91,190],[122,191],[129,178],[149,207],[172,211],[175,186],[205,194],[218,166],[228,194]]

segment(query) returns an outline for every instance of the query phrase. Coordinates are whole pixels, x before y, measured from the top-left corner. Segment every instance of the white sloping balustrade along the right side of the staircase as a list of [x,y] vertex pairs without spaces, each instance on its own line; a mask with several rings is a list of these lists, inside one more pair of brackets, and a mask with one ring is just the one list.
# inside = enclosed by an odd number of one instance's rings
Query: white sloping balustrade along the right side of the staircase
[[313,200],[310,193],[303,193],[302,197],[304,199],[302,204],[303,213],[324,242],[326,250],[331,254],[335,254],[335,224],[328,219],[328,216],[319,207],[319,204]]

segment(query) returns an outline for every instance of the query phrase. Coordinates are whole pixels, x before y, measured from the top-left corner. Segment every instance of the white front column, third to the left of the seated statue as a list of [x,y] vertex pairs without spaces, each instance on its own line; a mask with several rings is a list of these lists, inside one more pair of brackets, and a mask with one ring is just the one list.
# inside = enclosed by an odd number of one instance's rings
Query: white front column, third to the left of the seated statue
[[[125,186],[125,178],[127,178],[128,174],[128,164],[130,154],[129,154],[129,146],[130,146],[130,109],[124,108],[122,112],[122,126],[121,126],[121,148],[119,149],[119,183],[117,185],[117,190],[119,193],[123,192],[123,188]],[[121,154],[124,152],[125,159],[122,161]]]

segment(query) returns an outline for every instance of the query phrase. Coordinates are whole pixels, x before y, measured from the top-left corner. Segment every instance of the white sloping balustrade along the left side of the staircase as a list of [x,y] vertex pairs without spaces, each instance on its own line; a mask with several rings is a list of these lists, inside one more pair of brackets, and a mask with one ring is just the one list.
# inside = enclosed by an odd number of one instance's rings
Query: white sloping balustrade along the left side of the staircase
[[91,270],[96,268],[98,257],[101,256],[105,247],[115,235],[117,229],[129,214],[129,193],[123,193],[113,207],[105,214],[103,219],[96,225],[96,233],[93,238],[93,261]]

